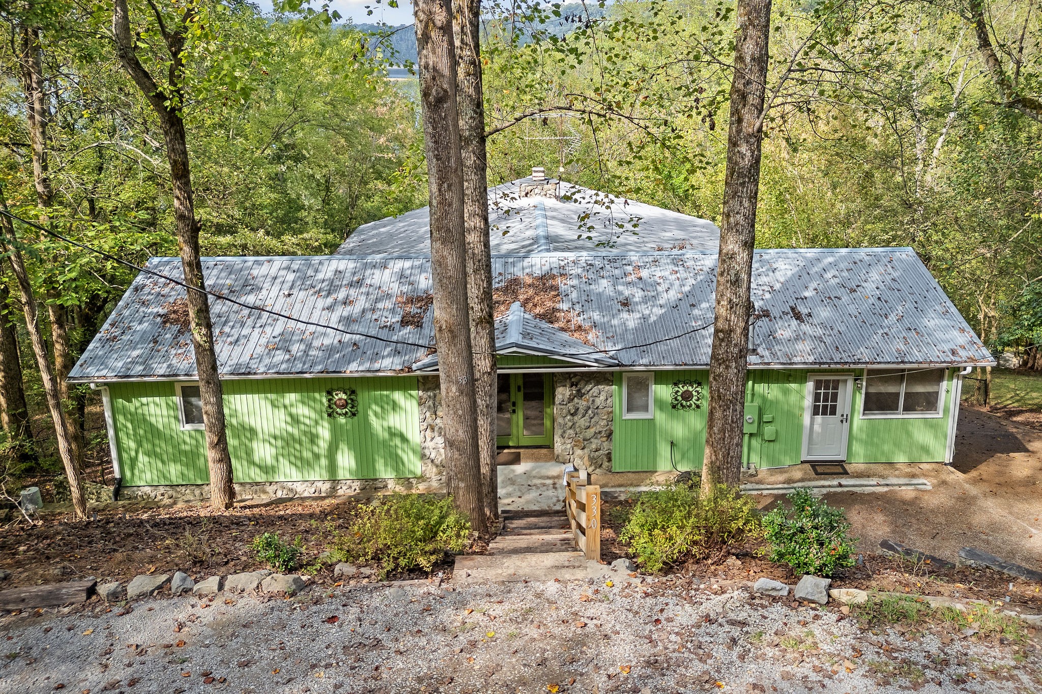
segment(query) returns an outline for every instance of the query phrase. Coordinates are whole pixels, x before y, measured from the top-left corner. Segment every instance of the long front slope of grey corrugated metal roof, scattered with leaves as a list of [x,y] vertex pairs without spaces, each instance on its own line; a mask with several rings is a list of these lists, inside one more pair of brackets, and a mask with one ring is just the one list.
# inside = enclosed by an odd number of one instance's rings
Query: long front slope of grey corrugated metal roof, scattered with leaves
[[[153,259],[148,267],[181,277],[175,258]],[[429,355],[427,258],[207,258],[203,269],[210,290],[247,304],[413,343],[349,336],[212,300],[226,376],[386,372],[411,369]],[[624,366],[709,364],[715,254],[493,258],[496,286],[522,276],[556,279],[572,324],[564,332],[576,341],[586,336],[599,356]],[[164,322],[171,302],[183,297],[181,287],[140,275],[71,378],[193,376],[187,331]],[[758,251],[752,300],[761,316],[753,326],[753,367],[994,363],[911,249]]]

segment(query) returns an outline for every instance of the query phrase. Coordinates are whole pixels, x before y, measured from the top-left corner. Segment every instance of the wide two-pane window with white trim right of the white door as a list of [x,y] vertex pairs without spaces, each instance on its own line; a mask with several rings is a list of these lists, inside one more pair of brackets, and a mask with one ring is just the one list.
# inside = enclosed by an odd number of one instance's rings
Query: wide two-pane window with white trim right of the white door
[[866,372],[862,416],[941,416],[943,368],[880,368]]

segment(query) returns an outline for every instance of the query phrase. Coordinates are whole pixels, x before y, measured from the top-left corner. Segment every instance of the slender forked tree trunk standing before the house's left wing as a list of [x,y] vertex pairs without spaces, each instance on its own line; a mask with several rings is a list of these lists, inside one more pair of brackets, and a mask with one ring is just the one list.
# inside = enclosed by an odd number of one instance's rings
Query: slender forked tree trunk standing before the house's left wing
[[[171,75],[179,72],[177,69],[180,68],[183,49],[182,32],[188,30],[188,26],[195,19],[194,14],[185,12],[181,26],[173,33],[160,27],[173,60],[170,68]],[[234,502],[235,489],[232,485],[231,456],[228,454],[228,439],[225,433],[224,396],[214,348],[209,298],[203,292],[205,284],[199,257],[199,222],[195,217],[188,138],[184,133],[184,121],[177,106],[183,103],[183,95],[180,93],[180,87],[174,85],[171,88],[176,94],[171,95],[169,99],[165,97],[152,76],[138,59],[126,0],[116,0],[113,7],[113,33],[120,62],[155,110],[163,127],[174,194],[177,248],[181,256],[184,283],[193,287],[188,290],[189,322],[192,327],[192,346],[195,350],[196,370],[199,374],[199,395],[202,401],[202,419],[206,432],[210,505],[216,509],[228,509]]]

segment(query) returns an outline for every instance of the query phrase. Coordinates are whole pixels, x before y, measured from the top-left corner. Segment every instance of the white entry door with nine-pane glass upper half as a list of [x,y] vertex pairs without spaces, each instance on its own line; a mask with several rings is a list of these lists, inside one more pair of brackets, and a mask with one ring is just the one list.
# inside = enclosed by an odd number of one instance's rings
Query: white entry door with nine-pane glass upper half
[[803,460],[846,460],[850,432],[849,376],[812,375],[803,414]]

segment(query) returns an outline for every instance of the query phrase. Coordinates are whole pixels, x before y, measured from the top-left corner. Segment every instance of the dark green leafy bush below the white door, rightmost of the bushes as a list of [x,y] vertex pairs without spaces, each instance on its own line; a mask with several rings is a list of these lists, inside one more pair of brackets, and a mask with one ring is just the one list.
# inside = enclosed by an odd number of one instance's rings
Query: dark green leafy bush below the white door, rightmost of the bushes
[[857,540],[847,535],[850,523],[843,509],[830,507],[802,489],[786,498],[792,504],[790,511],[778,505],[764,516],[769,559],[788,564],[797,574],[830,576],[853,566]]

